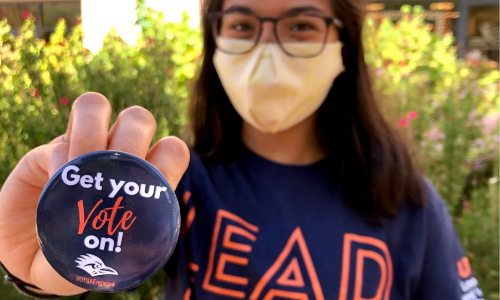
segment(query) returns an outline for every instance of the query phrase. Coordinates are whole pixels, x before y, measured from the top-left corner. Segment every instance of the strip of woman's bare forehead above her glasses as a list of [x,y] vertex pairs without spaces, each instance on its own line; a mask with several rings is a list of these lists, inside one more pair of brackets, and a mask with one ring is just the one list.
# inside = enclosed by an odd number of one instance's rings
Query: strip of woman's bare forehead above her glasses
[[278,17],[301,6],[314,6],[325,15],[333,16],[332,0],[224,0],[222,10],[233,5],[246,6],[261,17]]

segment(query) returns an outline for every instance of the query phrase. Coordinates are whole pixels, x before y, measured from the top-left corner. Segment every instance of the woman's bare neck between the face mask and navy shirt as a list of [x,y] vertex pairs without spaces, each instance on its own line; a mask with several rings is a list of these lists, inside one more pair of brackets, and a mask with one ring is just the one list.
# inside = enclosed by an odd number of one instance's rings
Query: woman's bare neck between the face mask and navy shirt
[[243,120],[243,143],[258,155],[277,163],[315,163],[328,153],[318,139],[316,118],[315,113],[294,127],[274,134],[261,132]]

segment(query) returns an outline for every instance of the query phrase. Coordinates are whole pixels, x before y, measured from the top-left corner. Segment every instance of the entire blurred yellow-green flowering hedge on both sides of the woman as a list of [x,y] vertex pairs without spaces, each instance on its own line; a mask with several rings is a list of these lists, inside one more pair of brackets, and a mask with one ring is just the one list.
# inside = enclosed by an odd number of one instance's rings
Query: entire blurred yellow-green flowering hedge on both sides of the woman
[[[453,38],[439,37],[421,7],[404,6],[395,24],[367,20],[366,60],[384,113],[414,141],[415,160],[446,200],[485,299],[498,296],[498,98],[494,62],[457,59]],[[0,21],[0,183],[29,149],[64,133],[72,102],[104,94],[113,119],[141,105],[158,123],[155,140],[181,135],[202,50],[188,16],[169,23],[138,2],[136,46],[110,31],[99,53],[82,44],[81,25],[63,19],[48,41],[23,14],[18,36]],[[130,293],[90,299],[162,299],[160,273]],[[26,299],[0,282],[2,299]],[[76,298],[75,298],[76,299]]]

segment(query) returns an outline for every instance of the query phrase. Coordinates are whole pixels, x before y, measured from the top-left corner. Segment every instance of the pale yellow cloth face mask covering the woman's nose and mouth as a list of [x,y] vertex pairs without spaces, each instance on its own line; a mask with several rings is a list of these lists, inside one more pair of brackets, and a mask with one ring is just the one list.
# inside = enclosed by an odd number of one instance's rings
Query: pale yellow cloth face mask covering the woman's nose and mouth
[[[223,39],[217,43],[237,49],[251,42]],[[305,53],[307,47],[318,45],[295,43],[286,47]],[[213,61],[238,114],[256,129],[276,133],[300,123],[321,106],[333,81],[345,69],[341,50],[341,42],[327,43],[318,56],[297,58],[284,53],[278,44],[258,44],[249,53],[238,55],[216,50]]]

